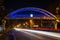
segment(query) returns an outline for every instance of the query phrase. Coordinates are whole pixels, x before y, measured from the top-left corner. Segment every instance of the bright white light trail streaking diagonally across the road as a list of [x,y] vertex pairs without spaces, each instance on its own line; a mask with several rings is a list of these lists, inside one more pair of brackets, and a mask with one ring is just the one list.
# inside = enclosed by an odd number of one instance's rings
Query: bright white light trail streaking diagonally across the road
[[37,34],[42,34],[42,35],[46,35],[46,36],[60,38],[60,33],[55,33],[55,32],[46,32],[46,31],[19,29],[19,28],[14,28],[14,29],[17,30],[17,31],[25,31],[25,32],[37,33]]

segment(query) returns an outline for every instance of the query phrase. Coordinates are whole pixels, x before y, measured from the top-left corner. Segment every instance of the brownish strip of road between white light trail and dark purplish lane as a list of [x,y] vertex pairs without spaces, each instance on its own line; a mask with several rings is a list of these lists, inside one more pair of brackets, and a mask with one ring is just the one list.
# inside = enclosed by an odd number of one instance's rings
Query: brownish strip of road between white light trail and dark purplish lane
[[50,37],[48,35],[36,34],[36,33],[26,32],[26,31],[24,31],[23,33],[30,35],[32,37],[36,37],[37,39],[40,39],[40,40],[60,40],[54,37]]

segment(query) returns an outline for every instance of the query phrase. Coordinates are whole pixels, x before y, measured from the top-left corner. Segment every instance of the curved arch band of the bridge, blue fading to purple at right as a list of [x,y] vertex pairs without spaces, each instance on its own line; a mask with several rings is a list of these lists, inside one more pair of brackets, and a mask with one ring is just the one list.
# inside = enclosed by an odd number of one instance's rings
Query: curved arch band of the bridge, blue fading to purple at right
[[[56,18],[52,13],[44,10],[44,9],[40,9],[40,8],[34,8],[34,7],[27,7],[27,8],[21,8],[21,9],[18,9],[18,10],[15,10],[11,13],[9,13],[5,18],[13,18],[15,19],[15,15],[18,13],[18,12],[24,12],[24,11],[35,11],[35,12],[39,12],[39,13],[42,13],[44,15],[46,15],[47,17],[51,17],[51,18]],[[19,15],[19,14],[18,14]],[[17,16],[18,16],[17,15]],[[40,14],[39,14],[40,15]],[[22,15],[23,16],[23,15]],[[19,17],[20,18],[20,17]]]

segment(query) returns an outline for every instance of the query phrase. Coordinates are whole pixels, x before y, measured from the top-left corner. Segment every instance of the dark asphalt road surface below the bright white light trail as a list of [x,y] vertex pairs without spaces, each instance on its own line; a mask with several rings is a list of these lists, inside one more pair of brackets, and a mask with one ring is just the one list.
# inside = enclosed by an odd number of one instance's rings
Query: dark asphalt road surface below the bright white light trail
[[7,40],[60,40],[60,38],[25,30],[14,30],[8,33]]

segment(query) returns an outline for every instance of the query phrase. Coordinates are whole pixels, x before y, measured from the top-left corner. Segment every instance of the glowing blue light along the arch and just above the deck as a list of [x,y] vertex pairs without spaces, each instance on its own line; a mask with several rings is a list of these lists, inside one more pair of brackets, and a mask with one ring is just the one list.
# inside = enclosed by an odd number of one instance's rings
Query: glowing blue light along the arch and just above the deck
[[41,14],[33,14],[36,17],[47,16],[47,17],[55,18],[51,13],[49,13],[49,12],[43,10],[43,9],[34,8],[34,7],[22,8],[22,9],[13,11],[9,15],[7,15],[6,18],[30,17],[28,14],[23,14],[23,15],[22,14],[21,15],[17,14],[18,12],[24,12],[24,11],[36,11],[36,12],[39,12],[39,13],[44,14],[44,15],[41,15]]

